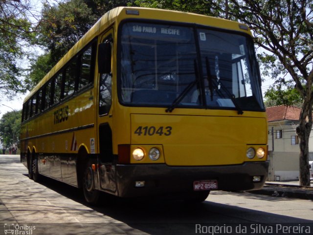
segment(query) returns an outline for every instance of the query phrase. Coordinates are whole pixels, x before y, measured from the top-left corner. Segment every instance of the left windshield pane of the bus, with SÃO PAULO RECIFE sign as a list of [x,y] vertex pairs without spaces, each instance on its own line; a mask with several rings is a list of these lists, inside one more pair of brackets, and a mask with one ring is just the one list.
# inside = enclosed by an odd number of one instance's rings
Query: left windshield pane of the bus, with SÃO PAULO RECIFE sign
[[[170,105],[197,80],[197,50],[192,28],[124,24],[120,53],[124,103]],[[192,90],[196,88],[195,83]],[[200,101],[190,102],[190,105],[199,105]]]

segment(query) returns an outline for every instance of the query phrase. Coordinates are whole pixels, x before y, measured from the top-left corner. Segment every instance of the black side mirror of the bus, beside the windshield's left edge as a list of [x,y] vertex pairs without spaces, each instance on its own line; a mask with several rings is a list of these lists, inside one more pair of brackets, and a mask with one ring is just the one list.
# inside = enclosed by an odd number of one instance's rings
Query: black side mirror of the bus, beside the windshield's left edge
[[112,46],[111,42],[105,41],[98,47],[98,71],[99,73],[111,72]]

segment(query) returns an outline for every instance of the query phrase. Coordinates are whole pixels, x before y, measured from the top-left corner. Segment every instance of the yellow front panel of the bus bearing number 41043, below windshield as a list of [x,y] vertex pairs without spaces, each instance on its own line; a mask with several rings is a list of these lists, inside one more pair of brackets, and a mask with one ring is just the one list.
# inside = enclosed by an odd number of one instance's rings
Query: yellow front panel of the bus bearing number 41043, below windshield
[[[162,144],[168,165],[242,164],[247,160],[247,146],[265,148],[267,135],[260,131],[266,126],[265,118],[212,116],[208,110],[199,113],[207,116],[131,114],[131,143]],[[138,136],[134,134],[138,126],[170,126],[172,134]]]

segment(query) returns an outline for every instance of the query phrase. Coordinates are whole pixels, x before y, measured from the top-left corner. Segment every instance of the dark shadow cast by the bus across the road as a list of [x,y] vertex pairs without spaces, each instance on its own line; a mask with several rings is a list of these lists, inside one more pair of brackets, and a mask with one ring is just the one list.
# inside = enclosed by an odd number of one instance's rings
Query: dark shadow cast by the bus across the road
[[[27,176],[27,175],[25,175]],[[103,194],[102,203],[97,206],[89,206],[78,188],[68,186],[53,179],[44,177],[40,182],[69,199],[92,208],[104,215],[110,216],[121,222],[142,226],[142,223],[300,223],[312,222],[290,216],[278,215],[263,211],[250,210],[226,204],[208,201],[200,204],[187,204],[179,200],[168,200],[160,197],[124,199]],[[225,193],[216,191],[215,194]],[[233,193],[234,194],[234,193]],[[236,192],[234,195],[243,199],[259,199],[268,201],[288,201],[286,198],[268,197],[245,192]],[[261,205],[260,205],[261,206]],[[136,225],[137,224],[137,225]]]

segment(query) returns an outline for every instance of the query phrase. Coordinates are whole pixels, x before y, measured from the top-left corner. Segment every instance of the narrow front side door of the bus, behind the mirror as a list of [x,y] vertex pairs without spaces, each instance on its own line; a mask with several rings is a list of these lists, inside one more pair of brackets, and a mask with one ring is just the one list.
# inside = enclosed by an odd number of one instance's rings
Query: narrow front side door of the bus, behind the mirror
[[[98,47],[97,130],[100,188],[116,191],[112,151],[112,40],[113,30],[100,38]],[[109,51],[110,50],[110,51]]]

